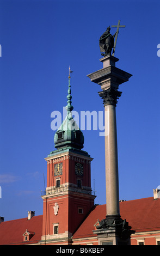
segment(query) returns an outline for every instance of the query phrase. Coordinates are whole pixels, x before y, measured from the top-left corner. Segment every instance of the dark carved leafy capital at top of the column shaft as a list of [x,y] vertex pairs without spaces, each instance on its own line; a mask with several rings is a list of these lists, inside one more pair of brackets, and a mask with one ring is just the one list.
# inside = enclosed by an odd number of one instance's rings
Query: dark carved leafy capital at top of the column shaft
[[122,92],[115,90],[113,88],[109,88],[107,90],[102,90],[99,92],[100,97],[103,99],[104,106],[106,105],[114,105],[116,107],[117,100],[121,96]]

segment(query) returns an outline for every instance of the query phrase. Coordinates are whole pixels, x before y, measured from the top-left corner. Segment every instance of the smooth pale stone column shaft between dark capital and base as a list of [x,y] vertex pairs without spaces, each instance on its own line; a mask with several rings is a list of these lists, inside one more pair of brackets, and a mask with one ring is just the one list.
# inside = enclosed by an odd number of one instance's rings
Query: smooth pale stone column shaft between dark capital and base
[[120,216],[118,148],[114,105],[104,106],[107,216]]

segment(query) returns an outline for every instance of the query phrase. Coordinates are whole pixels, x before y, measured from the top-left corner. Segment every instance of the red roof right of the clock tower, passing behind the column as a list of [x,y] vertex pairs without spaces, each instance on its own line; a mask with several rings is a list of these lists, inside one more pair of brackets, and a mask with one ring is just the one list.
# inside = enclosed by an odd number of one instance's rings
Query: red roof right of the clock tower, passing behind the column
[[[160,199],[153,197],[120,202],[121,218],[136,232],[160,230]],[[73,234],[73,239],[96,236],[93,234],[97,219],[106,217],[106,205],[97,205]]]

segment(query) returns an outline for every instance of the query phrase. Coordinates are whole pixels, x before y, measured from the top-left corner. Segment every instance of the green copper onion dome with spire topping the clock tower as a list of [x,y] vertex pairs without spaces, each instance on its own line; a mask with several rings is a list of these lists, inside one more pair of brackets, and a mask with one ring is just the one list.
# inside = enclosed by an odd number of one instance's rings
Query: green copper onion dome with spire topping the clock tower
[[84,136],[82,131],[76,124],[76,121],[72,117],[73,106],[71,105],[71,86],[70,86],[70,74],[69,74],[69,89],[67,95],[67,115],[63,123],[60,125],[56,134],[54,135],[54,147],[57,149],[62,148],[76,148],[82,149],[84,144]]

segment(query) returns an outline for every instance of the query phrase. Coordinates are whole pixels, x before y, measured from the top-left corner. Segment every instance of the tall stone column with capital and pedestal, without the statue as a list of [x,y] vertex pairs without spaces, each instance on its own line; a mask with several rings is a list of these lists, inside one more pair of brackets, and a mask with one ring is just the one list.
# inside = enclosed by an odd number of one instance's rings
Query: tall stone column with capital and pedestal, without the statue
[[105,115],[105,162],[106,162],[106,206],[107,215],[99,221],[97,230],[99,245],[130,244],[133,233],[126,220],[122,220],[119,210],[119,180],[118,180],[118,148],[116,132],[116,103],[121,92],[119,85],[128,81],[131,74],[115,67],[118,58],[106,56],[100,61],[103,69],[88,75],[92,82],[100,84]]

